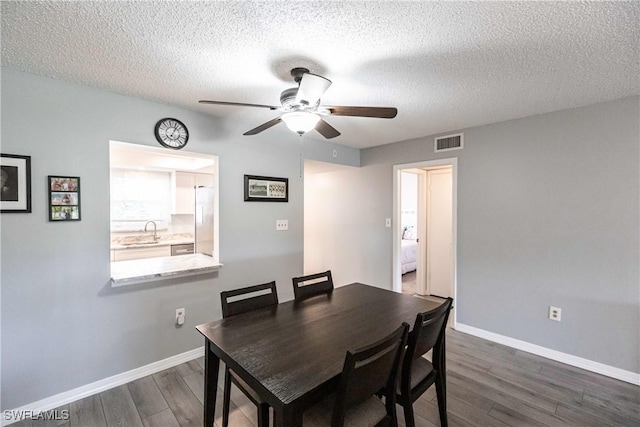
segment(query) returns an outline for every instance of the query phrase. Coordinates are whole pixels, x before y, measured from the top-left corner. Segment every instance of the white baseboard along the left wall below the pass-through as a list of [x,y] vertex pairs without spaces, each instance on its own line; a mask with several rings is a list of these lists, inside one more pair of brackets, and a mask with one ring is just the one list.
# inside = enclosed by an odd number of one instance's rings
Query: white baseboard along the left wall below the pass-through
[[59,408],[62,405],[66,405],[68,403],[75,402],[76,400],[83,399],[87,396],[92,396],[105,390],[118,387],[119,385],[144,378],[148,375],[155,374],[165,369],[180,365],[181,363],[197,359],[198,357],[203,355],[204,346],[189,350],[182,354],[168,357],[163,360],[159,360],[157,362],[150,363],[146,366],[141,366],[139,368],[114,375],[109,378],[102,379],[100,381],[93,382],[91,384],[84,385],[82,387],[74,388],[73,390],[65,391],[42,400],[38,400],[37,402],[29,403],[16,409],[3,411],[2,425],[7,426],[9,424],[13,424],[14,422],[20,421],[19,419],[14,419],[15,416],[12,416],[11,419],[7,419],[8,414],[19,414],[27,412],[38,414],[41,412],[51,411],[55,408]]

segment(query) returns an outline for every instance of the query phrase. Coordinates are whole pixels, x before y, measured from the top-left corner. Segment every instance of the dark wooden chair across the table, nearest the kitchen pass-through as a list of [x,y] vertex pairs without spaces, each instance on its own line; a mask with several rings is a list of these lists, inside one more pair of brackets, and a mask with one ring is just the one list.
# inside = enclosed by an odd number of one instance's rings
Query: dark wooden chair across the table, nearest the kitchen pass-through
[[[253,294],[253,296],[251,296]],[[246,298],[242,298],[246,297]],[[262,285],[249,286],[246,288],[234,289],[220,292],[222,302],[222,318],[269,307],[278,304],[278,291],[276,282],[264,283]],[[231,402],[231,383],[235,384],[258,408],[258,427],[269,425],[269,405],[265,403],[258,394],[242,381],[232,369],[225,364],[224,370],[224,397],[222,407],[222,426],[229,425],[229,405]]]

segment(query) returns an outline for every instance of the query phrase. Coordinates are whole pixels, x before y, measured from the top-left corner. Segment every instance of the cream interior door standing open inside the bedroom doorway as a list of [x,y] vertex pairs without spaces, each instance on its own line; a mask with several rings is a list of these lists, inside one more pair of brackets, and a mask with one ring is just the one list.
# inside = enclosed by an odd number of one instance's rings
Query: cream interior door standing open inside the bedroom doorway
[[427,289],[440,297],[453,289],[452,178],[451,168],[427,171]]

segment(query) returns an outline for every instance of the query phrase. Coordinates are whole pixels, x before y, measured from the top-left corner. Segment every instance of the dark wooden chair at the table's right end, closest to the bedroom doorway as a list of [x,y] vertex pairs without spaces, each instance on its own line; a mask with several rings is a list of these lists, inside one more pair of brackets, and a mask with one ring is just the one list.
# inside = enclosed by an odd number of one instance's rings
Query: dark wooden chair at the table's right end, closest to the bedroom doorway
[[[445,362],[445,329],[453,304],[447,298],[439,307],[419,313],[407,339],[407,350],[400,369],[396,400],[404,409],[407,427],[415,426],[413,402],[432,384],[436,385],[440,426],[447,426],[447,390]],[[431,362],[422,357],[432,350]]]

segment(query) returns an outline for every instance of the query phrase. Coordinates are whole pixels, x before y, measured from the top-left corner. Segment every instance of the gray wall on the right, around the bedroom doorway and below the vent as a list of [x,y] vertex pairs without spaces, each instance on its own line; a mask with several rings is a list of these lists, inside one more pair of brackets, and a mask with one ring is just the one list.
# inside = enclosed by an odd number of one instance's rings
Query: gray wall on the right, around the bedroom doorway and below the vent
[[431,136],[363,150],[322,178],[343,228],[317,251],[390,288],[393,165],[457,157],[458,322],[640,372],[639,122],[633,97],[465,129],[461,151],[434,154]]

